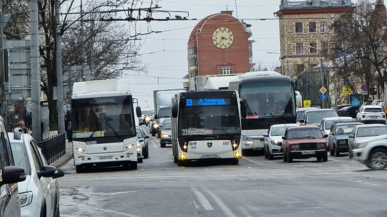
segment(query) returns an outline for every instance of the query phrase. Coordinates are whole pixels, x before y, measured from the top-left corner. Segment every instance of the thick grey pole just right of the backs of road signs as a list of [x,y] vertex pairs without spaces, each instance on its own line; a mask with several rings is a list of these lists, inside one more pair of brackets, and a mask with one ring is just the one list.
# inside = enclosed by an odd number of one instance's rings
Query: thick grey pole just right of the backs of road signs
[[[38,1],[30,0],[29,22],[31,26],[31,101],[32,101],[32,137],[39,141],[40,131],[40,56],[39,56],[39,25]],[[4,65],[4,64],[3,64]]]

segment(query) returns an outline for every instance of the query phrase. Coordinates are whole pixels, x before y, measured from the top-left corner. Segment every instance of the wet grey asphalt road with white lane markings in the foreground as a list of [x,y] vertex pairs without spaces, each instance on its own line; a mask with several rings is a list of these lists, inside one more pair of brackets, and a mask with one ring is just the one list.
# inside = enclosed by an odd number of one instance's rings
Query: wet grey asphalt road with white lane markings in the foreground
[[[144,127],[145,131],[149,131]],[[149,138],[149,158],[135,171],[59,179],[62,217],[386,217],[387,170],[370,171],[348,154],[285,163],[252,154],[238,165],[173,163],[171,146]]]

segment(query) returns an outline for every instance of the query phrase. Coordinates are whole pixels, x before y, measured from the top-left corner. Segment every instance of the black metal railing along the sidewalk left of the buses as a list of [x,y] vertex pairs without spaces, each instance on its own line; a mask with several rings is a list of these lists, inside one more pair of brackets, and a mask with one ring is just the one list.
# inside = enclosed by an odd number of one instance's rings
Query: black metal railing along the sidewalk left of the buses
[[64,132],[36,142],[36,144],[42,149],[43,154],[50,164],[66,153],[66,136]]

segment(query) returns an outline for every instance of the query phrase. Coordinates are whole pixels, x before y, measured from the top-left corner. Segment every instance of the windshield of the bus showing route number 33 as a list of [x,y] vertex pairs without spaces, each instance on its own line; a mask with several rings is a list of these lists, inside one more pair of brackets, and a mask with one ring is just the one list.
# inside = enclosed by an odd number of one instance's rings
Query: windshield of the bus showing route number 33
[[181,107],[178,118],[179,136],[240,133],[238,106]]

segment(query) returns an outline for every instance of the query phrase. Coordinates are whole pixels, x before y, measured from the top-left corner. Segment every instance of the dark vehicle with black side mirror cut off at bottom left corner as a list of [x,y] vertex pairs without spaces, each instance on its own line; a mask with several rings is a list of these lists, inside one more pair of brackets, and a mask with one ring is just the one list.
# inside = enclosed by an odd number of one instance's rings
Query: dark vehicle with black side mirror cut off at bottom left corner
[[20,217],[18,188],[15,183],[26,180],[26,172],[15,166],[7,131],[0,117],[0,216]]

